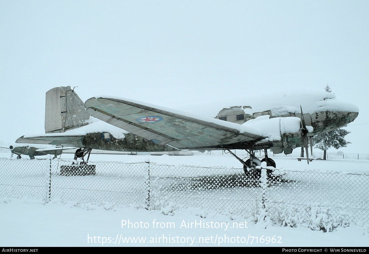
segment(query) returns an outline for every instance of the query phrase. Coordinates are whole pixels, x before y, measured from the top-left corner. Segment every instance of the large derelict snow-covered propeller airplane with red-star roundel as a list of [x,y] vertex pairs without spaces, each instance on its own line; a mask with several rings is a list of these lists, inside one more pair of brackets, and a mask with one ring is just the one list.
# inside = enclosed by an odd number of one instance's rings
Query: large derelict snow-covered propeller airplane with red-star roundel
[[[65,91],[68,89],[72,94],[74,93],[68,87],[62,88]],[[58,96],[56,92],[56,105],[60,101],[63,104],[64,99],[58,99]],[[61,94],[59,97],[62,96],[64,95]],[[66,98],[68,101],[68,96]],[[46,108],[47,101],[46,96]],[[141,137],[141,140],[146,142],[139,146],[141,151],[151,151],[153,148],[159,150],[223,149],[232,153],[231,149],[244,149],[250,155],[246,161],[232,154],[244,165],[245,173],[250,172],[249,169],[255,171],[255,166],[261,165],[263,161],[267,166],[276,166],[275,162],[268,158],[266,149],[272,149],[273,153],[284,152],[285,154],[292,153],[292,150],[297,147],[305,147],[307,151],[309,137],[345,126],[354,121],[359,112],[355,105],[338,101],[332,93],[307,91],[300,94],[290,92],[281,96],[272,95],[263,100],[257,98],[256,102],[252,102],[252,99],[247,100],[246,103],[232,100],[226,108],[218,108],[217,115],[213,113],[215,118],[113,96],[96,96],[88,99],[84,105],[82,101],[80,104],[82,107],[76,108],[70,116],[77,118],[88,113],[94,118],[120,128],[123,136],[127,136],[129,132],[136,138]],[[66,105],[68,106],[68,103]],[[66,122],[66,118],[63,120],[63,115],[60,118],[60,113],[55,114],[60,112],[59,108],[52,112],[54,112],[53,117],[48,119],[51,119],[53,124]],[[81,119],[87,119],[87,116]],[[78,124],[85,125],[86,121],[76,121],[75,125]],[[47,125],[52,126],[50,122]],[[59,131],[56,128],[59,128]],[[51,129],[52,132],[64,132],[67,128],[69,127],[54,124]],[[76,132],[80,131],[82,128],[76,129]],[[68,146],[76,146],[78,143],[79,147],[102,150],[138,148],[135,139],[131,139],[131,142],[127,140],[122,142],[124,139],[114,138],[110,136],[111,133],[106,135],[96,130],[96,132],[73,136],[66,135],[67,132],[28,135],[16,142],[46,142]],[[128,148],[129,144],[131,146]],[[254,155],[254,150],[260,149],[265,150],[262,160]]]

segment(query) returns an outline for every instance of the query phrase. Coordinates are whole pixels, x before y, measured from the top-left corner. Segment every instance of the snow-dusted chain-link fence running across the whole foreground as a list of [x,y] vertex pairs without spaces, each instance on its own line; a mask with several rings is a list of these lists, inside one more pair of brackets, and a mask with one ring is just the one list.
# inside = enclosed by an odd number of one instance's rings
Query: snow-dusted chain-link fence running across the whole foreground
[[94,175],[65,176],[62,160],[0,159],[0,197],[134,206],[164,214],[191,210],[249,221],[331,231],[369,222],[369,175],[275,170],[249,179],[243,169],[139,162],[90,162]]

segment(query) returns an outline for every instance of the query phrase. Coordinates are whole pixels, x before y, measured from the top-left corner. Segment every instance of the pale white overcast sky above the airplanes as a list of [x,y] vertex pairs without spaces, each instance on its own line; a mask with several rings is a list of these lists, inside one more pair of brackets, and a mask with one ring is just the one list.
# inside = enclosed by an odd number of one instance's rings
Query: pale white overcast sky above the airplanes
[[367,0],[0,0],[0,142],[43,133],[59,86],[179,107],[328,84],[360,109],[341,150],[369,152],[368,13]]

